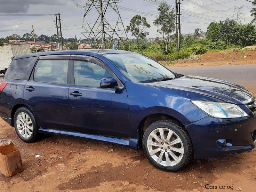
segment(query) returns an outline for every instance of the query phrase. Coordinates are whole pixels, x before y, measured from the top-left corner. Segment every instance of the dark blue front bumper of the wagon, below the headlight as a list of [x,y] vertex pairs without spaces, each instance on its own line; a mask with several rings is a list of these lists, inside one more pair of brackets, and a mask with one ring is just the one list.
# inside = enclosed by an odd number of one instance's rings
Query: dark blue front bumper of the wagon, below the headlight
[[[252,132],[256,132],[254,116],[218,119],[207,116],[186,127],[192,140],[194,158],[214,159],[252,150]],[[219,141],[226,140],[228,146],[220,147]]]

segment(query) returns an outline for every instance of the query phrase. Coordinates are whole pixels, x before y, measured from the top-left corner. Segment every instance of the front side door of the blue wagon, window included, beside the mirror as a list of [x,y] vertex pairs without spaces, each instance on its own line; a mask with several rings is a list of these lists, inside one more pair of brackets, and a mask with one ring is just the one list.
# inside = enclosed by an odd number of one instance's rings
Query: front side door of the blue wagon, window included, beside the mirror
[[[71,56],[74,77],[69,88],[69,105],[73,130],[80,133],[90,133],[114,137],[116,125],[113,122],[111,106],[113,94],[120,92],[117,101],[124,100],[124,108],[128,113],[128,101],[125,88],[123,91],[100,88],[100,79],[112,77],[118,80],[114,73],[100,60],[90,56]],[[119,81],[119,80],[118,80]],[[124,96],[122,96],[124,94]],[[115,108],[119,108],[116,106]],[[123,105],[119,105],[122,106]],[[124,121],[124,123],[127,123]],[[128,123],[126,124],[128,126]],[[124,127],[126,126],[124,125]],[[128,132],[128,129],[127,131]]]

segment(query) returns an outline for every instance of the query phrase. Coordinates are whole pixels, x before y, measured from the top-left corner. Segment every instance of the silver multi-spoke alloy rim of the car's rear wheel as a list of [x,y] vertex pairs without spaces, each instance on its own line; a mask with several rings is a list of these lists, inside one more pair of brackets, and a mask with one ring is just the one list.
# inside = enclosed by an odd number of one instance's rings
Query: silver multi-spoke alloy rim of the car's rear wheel
[[17,130],[24,138],[29,138],[33,131],[33,124],[30,116],[25,112],[20,112],[16,120]]

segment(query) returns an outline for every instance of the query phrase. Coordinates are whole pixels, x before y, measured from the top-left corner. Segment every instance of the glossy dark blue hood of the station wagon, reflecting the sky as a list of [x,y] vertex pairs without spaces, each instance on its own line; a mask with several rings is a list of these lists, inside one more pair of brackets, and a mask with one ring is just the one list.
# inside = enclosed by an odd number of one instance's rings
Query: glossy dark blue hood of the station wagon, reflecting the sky
[[253,95],[244,87],[227,81],[200,76],[182,76],[177,79],[150,83],[154,86],[179,89],[212,96],[227,102],[241,103]]

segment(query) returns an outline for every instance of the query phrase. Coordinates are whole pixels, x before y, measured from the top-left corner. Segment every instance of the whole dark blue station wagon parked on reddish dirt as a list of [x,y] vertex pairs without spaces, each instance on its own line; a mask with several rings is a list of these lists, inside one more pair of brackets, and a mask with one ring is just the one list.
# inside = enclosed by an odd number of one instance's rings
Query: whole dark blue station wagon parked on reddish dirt
[[191,158],[252,150],[256,99],[237,84],[172,72],[140,53],[41,52],[12,58],[0,116],[21,140],[65,134],[143,148],[177,171]]

